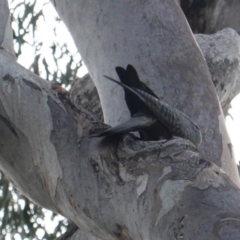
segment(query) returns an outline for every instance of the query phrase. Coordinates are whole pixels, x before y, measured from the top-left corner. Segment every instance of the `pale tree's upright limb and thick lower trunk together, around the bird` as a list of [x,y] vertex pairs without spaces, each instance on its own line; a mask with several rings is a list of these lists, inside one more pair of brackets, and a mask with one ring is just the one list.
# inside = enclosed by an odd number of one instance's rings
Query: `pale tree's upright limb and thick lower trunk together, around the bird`
[[30,199],[94,236],[76,232],[81,239],[236,239],[240,191],[231,143],[177,1],[53,3],[108,124],[129,113],[122,90],[102,75],[114,77],[115,66],[130,63],[161,99],[199,124],[203,142],[197,149],[181,138],[90,138],[105,125],[1,50],[1,170]]

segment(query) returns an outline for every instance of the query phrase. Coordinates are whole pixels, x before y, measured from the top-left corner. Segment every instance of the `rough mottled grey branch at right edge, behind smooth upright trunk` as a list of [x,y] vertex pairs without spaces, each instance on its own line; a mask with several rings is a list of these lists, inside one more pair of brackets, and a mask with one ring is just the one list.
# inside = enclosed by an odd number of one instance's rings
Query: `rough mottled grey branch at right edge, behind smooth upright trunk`
[[215,85],[224,115],[240,92],[240,37],[226,28],[212,35],[196,34]]

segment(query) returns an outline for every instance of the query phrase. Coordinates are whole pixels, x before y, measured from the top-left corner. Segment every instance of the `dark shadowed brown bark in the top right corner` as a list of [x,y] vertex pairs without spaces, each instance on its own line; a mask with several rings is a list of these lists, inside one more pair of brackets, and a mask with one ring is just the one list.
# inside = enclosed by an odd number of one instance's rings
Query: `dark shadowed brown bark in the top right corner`
[[179,0],[194,33],[215,33],[233,28],[240,33],[238,0]]

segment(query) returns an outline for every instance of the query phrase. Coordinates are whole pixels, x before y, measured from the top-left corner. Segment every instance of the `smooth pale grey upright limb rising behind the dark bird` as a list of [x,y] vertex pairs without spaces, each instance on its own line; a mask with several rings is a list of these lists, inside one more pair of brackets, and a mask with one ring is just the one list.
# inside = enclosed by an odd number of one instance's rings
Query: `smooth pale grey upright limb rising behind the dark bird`
[[116,77],[116,66],[131,63],[161,100],[200,126],[201,154],[239,184],[206,62],[176,1],[52,2],[88,67],[107,124],[117,125],[129,112],[123,91],[103,75]]

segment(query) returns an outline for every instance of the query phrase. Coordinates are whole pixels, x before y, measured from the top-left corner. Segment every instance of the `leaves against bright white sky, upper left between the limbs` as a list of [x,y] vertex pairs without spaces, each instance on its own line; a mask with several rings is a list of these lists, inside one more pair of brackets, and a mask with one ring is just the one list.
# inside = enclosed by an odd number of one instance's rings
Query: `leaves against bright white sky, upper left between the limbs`
[[76,78],[82,60],[73,42],[66,41],[70,39],[69,34],[49,4],[36,0],[11,2],[15,52],[18,59],[28,56],[25,67],[37,75],[69,86]]

